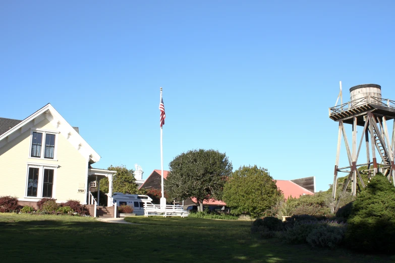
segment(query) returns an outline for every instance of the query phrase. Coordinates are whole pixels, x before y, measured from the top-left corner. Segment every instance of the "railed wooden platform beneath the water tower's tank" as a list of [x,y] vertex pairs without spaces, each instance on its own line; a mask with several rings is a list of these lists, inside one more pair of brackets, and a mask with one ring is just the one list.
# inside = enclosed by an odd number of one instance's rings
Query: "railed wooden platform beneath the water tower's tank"
[[353,124],[354,117],[357,117],[357,125],[364,126],[368,111],[377,117],[385,116],[387,120],[395,119],[395,101],[373,96],[358,98],[329,108],[329,118]]

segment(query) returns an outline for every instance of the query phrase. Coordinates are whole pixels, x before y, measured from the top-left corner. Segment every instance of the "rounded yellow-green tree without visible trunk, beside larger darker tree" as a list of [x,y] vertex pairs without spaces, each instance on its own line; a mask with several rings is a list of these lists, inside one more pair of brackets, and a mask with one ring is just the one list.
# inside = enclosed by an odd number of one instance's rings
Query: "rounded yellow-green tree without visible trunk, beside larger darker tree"
[[236,214],[260,217],[281,198],[281,190],[267,169],[243,166],[234,171],[223,188],[222,200]]

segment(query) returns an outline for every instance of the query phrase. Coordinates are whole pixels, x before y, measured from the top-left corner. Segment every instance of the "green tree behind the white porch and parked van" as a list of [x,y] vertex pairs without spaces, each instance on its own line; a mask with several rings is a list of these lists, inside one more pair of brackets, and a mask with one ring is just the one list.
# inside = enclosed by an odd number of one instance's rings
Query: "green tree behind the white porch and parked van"
[[[112,176],[112,192],[123,192],[126,194],[137,194],[138,184],[136,183],[136,178],[134,178],[133,170],[126,168],[126,166],[110,166],[108,167],[110,171],[117,171],[117,173]],[[100,180],[100,191],[108,192],[108,178],[105,177]]]

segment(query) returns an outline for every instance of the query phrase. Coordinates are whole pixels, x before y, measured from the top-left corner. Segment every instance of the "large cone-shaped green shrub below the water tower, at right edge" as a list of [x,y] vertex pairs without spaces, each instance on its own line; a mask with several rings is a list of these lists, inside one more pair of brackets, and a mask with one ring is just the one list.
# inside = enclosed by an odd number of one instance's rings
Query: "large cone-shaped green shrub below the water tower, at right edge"
[[377,173],[354,201],[348,219],[346,245],[351,249],[393,254],[395,187]]

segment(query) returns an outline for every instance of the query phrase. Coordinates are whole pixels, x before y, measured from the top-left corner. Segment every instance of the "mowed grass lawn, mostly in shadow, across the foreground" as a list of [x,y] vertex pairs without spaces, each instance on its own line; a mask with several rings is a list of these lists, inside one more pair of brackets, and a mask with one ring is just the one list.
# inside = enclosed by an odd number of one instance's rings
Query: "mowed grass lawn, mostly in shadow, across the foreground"
[[0,214],[2,262],[393,262],[384,255],[262,240],[249,221]]

